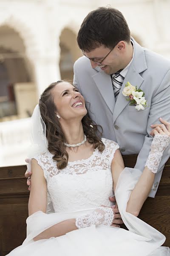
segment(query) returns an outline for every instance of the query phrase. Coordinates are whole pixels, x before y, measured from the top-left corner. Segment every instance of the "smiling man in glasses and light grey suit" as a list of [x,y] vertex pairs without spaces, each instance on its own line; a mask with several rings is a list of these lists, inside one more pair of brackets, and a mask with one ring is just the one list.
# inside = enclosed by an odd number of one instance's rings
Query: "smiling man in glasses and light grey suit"
[[[116,141],[123,155],[139,154],[135,168],[142,172],[153,140],[151,125],[160,124],[160,117],[170,120],[170,61],[137,44],[122,13],[113,8],[90,12],[77,42],[84,56],[74,64],[74,85],[90,103],[88,112],[102,125],[103,137]],[[127,82],[144,92],[146,105],[130,105],[124,96]],[[168,150],[150,197],[156,195]]]

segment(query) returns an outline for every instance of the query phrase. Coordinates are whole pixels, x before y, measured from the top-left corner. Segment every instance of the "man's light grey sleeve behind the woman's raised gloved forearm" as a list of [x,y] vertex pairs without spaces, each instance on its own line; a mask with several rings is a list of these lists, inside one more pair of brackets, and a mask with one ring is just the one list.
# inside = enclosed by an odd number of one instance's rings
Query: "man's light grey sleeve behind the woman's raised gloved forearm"
[[[153,94],[147,122],[147,135],[145,136],[144,144],[136,161],[136,169],[141,171],[144,170],[144,165],[147,161],[147,157],[150,152],[150,145],[153,140],[153,137],[150,136],[150,131],[152,130],[150,125],[161,123],[159,121],[160,117],[170,122],[170,70],[166,73],[159,88]],[[170,146],[168,146],[164,151],[158,172],[162,172],[164,164],[167,162],[169,157]],[[154,186],[152,189],[154,189]]]

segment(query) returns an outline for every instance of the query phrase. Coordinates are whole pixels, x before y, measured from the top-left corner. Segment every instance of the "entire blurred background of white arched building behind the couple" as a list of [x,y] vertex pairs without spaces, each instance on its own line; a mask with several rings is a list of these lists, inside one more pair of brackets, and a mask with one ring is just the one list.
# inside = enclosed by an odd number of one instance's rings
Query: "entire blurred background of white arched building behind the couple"
[[139,44],[170,58],[170,0],[0,0],[0,166],[25,164],[40,94],[73,80],[82,20],[107,5],[123,13]]

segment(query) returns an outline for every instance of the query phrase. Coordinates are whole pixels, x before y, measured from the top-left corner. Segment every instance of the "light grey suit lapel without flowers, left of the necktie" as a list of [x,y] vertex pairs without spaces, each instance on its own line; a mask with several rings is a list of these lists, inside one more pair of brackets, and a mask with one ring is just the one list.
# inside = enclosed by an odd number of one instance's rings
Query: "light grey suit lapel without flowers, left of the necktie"
[[92,76],[96,86],[98,87],[103,99],[108,105],[109,109],[113,113],[115,99],[113,93],[113,86],[111,81],[111,76],[105,74],[104,72],[98,72]]

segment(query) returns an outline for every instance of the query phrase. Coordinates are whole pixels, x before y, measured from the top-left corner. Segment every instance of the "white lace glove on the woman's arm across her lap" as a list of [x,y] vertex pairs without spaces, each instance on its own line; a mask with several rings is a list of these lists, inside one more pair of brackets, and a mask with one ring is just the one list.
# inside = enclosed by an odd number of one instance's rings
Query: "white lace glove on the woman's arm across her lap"
[[91,214],[76,218],[76,227],[78,229],[90,227],[91,225],[110,226],[114,219],[113,209],[111,207],[98,207]]

